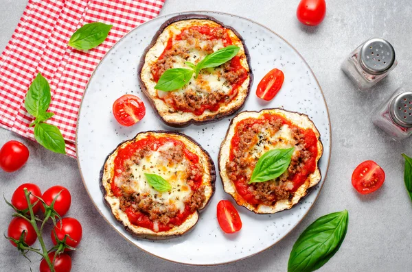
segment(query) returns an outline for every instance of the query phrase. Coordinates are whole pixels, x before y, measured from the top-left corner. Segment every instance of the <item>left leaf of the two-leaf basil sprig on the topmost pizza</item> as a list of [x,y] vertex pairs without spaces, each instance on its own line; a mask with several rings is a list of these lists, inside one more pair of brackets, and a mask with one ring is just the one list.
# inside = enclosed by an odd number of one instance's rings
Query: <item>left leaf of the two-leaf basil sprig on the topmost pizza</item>
[[168,69],[161,75],[157,82],[155,89],[170,92],[172,90],[178,90],[190,82],[194,71],[184,68],[172,68]]

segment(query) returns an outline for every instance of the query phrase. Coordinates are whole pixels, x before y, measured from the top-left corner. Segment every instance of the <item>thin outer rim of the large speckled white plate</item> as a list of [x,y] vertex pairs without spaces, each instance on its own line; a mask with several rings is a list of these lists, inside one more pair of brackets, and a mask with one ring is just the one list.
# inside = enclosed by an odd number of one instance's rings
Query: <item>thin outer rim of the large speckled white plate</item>
[[[126,38],[126,36],[128,36],[131,32],[135,31],[135,29],[137,29],[138,27],[141,27],[141,25],[145,25],[146,23],[149,23],[150,21],[155,20],[155,19],[157,19],[157,18],[161,18],[161,17],[178,16],[178,15],[181,15],[181,14],[196,13],[196,12],[206,12],[206,13],[212,13],[212,14],[223,14],[223,15],[235,16],[235,17],[238,17],[238,18],[242,18],[242,19],[244,19],[244,20],[250,21],[251,23],[255,23],[256,25],[260,25],[260,27],[264,27],[264,29],[267,29],[269,32],[272,32],[273,34],[275,34],[276,36],[278,36],[279,38],[281,38],[284,42],[286,42],[286,44],[287,44],[288,46],[290,46],[290,47],[293,49],[293,51],[295,51],[295,52],[297,53],[297,55],[299,55],[299,57],[300,57],[301,60],[304,62],[304,64],[305,64],[306,66],[308,66],[308,69],[309,69],[310,73],[312,73],[312,76],[314,77],[314,80],[316,81],[317,86],[319,87],[319,90],[321,91],[321,95],[322,95],[323,101],[325,102],[326,113],[328,114],[328,121],[329,121],[329,122],[328,122],[328,125],[329,125],[329,131],[330,131],[330,133],[329,133],[329,143],[330,143],[330,145],[329,145],[329,156],[328,156],[328,158],[327,158],[327,159],[328,159],[328,162],[327,162],[327,165],[326,165],[326,171],[325,171],[325,173],[323,174],[323,177],[322,177],[322,178],[323,178],[323,182],[322,182],[322,184],[321,184],[321,187],[319,188],[319,193],[318,193],[317,196],[315,197],[314,201],[310,204],[310,207],[308,208],[308,210],[306,210],[305,214],[304,214],[304,215],[301,217],[301,219],[297,222],[297,224],[296,224],[294,227],[292,227],[286,234],[284,234],[284,236],[283,236],[282,238],[279,238],[279,240],[277,240],[275,243],[273,243],[272,245],[270,245],[270,246],[268,246],[268,247],[266,247],[266,248],[264,248],[264,249],[262,249],[262,250],[260,250],[260,251],[258,251],[258,252],[255,252],[254,254],[251,254],[251,255],[249,255],[249,256],[240,257],[240,258],[238,258],[238,259],[236,259],[236,260],[231,260],[231,261],[229,261],[229,262],[220,262],[220,263],[214,263],[214,264],[191,264],[191,263],[186,263],[186,262],[179,262],[179,261],[176,261],[176,260],[170,260],[170,259],[168,259],[168,258],[164,258],[164,257],[161,257],[161,256],[157,256],[156,254],[153,254],[152,252],[147,251],[146,249],[144,249],[144,248],[142,248],[142,247],[139,247],[138,245],[136,245],[135,243],[133,243],[132,241],[130,241],[122,232],[119,232],[119,231],[116,229],[115,225],[113,225],[111,222],[108,221],[108,219],[106,219],[106,217],[104,216],[104,214],[102,214],[102,212],[100,212],[97,204],[95,203],[93,197],[90,195],[90,192],[89,192],[89,190],[87,189],[87,185],[86,185],[86,182],[84,181],[82,169],[81,169],[81,167],[80,167],[80,160],[79,160],[79,156],[78,156],[78,155],[79,155],[79,154],[78,154],[78,127],[79,127],[79,126],[78,126],[78,123],[79,123],[79,121],[80,121],[80,111],[82,110],[83,97],[84,97],[84,95],[86,94],[87,89],[89,88],[89,84],[90,84],[90,82],[91,82],[92,77],[95,75],[95,72],[96,72],[97,69],[99,68],[100,64],[102,64],[103,60],[107,57],[108,53],[110,53],[110,52],[113,50],[113,48],[115,47],[115,45],[117,45],[117,43],[121,42],[121,41],[122,41],[124,38]],[[240,110],[240,112],[241,112],[241,110]],[[120,38],[117,42],[115,42],[115,44],[111,47],[111,49],[108,49],[108,51],[106,52],[106,54],[104,54],[102,60],[100,60],[100,62],[98,63],[98,65],[95,67],[93,73],[91,74],[91,76],[90,76],[90,78],[89,78],[89,82],[87,82],[86,88],[84,88],[84,92],[83,92],[83,96],[82,96],[82,101],[80,102],[80,108],[79,108],[79,112],[78,112],[78,120],[76,121],[76,141],[75,141],[75,144],[76,144],[76,160],[77,160],[77,163],[78,163],[79,173],[80,173],[80,177],[82,178],[82,183],[83,183],[84,188],[86,189],[87,195],[89,195],[89,198],[91,199],[91,202],[93,203],[93,206],[95,207],[96,210],[98,210],[100,216],[104,219],[104,221],[106,221],[106,223],[108,223],[108,225],[110,225],[110,226],[113,228],[113,230],[115,230],[115,232],[117,232],[120,236],[122,236],[122,238],[124,238],[128,243],[130,243],[131,245],[137,247],[137,248],[140,249],[141,251],[144,251],[144,252],[150,254],[151,256],[155,256],[155,257],[157,257],[157,258],[160,258],[160,259],[162,259],[162,260],[166,260],[166,261],[168,261],[168,262],[174,262],[174,263],[176,263],[176,264],[184,264],[184,265],[194,266],[194,267],[211,267],[211,266],[218,266],[218,265],[223,265],[223,264],[230,264],[230,263],[233,263],[233,262],[238,262],[238,261],[240,261],[240,260],[245,260],[245,259],[247,259],[247,258],[251,258],[252,256],[255,256],[255,255],[257,255],[257,254],[262,253],[263,251],[266,251],[266,250],[270,249],[271,247],[273,247],[274,245],[276,245],[277,243],[279,243],[281,240],[283,240],[286,236],[288,236],[288,235],[290,234],[290,232],[292,232],[293,230],[295,230],[295,227],[297,227],[297,225],[299,225],[299,224],[301,223],[301,221],[304,220],[304,218],[306,217],[306,215],[308,215],[308,212],[312,209],[314,203],[316,203],[316,201],[317,201],[317,199],[318,199],[318,197],[319,197],[319,195],[320,195],[320,193],[321,193],[321,191],[322,191],[323,184],[325,184],[326,177],[328,176],[328,171],[329,171],[329,166],[330,166],[330,156],[331,156],[331,153],[332,153],[332,152],[331,152],[331,150],[332,150],[332,124],[331,124],[331,122],[330,122],[330,114],[329,114],[328,103],[326,103],[325,95],[324,95],[324,93],[323,93],[323,90],[322,90],[322,88],[321,88],[321,85],[319,84],[319,81],[318,81],[316,75],[314,75],[312,69],[310,68],[310,66],[309,66],[309,64],[308,64],[308,62],[306,62],[306,60],[305,60],[304,57],[299,53],[299,51],[297,51],[297,49],[296,49],[295,47],[293,47],[293,45],[291,45],[290,42],[288,42],[285,38],[283,38],[282,36],[280,36],[279,34],[277,34],[277,32],[274,32],[271,28],[266,27],[266,25],[263,25],[263,24],[258,23],[258,22],[256,22],[256,21],[253,21],[251,18],[247,18],[247,17],[244,17],[244,16],[240,16],[240,15],[236,15],[236,14],[231,14],[231,13],[229,13],[229,12],[216,12],[216,11],[213,11],[213,10],[186,10],[186,11],[181,11],[181,12],[172,12],[172,13],[168,13],[168,14],[162,14],[161,16],[157,16],[157,17],[152,18],[152,19],[150,19],[150,20],[148,20],[148,21],[146,21],[146,22],[144,22],[144,23],[141,23],[141,24],[138,25],[137,27],[134,27],[133,29],[130,29],[130,31],[129,31],[127,34],[125,34],[122,38]]]

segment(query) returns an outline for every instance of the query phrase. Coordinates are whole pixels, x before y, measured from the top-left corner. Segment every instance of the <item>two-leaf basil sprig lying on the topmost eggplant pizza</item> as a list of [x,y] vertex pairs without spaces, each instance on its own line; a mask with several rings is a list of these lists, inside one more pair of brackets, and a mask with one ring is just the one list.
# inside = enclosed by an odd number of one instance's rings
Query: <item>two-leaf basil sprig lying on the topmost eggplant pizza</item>
[[155,89],[163,90],[164,92],[170,92],[173,90],[178,90],[185,86],[190,79],[192,79],[193,74],[195,77],[198,76],[201,69],[216,67],[225,62],[231,60],[240,50],[240,47],[236,45],[229,45],[225,48],[219,49],[214,53],[206,55],[203,60],[198,62],[197,65],[192,62],[185,62],[190,69],[185,68],[172,68],[166,70],[163,75],[159,78]]

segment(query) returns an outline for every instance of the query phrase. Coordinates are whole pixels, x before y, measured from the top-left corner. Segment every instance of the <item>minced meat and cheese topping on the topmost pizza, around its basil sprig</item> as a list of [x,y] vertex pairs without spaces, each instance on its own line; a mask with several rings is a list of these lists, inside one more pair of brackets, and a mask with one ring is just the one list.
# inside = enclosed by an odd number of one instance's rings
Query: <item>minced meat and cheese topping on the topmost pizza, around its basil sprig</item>
[[[166,47],[159,59],[152,64],[151,72],[155,82],[164,71],[172,68],[188,68],[184,62],[197,64],[205,55],[227,45],[227,29],[216,27],[213,38],[202,34],[194,27],[184,29],[179,39],[172,38],[171,47]],[[159,97],[170,107],[170,112],[194,112],[199,115],[205,110],[216,111],[220,104],[229,103],[237,95],[236,84],[247,77],[247,70],[233,66],[235,57],[218,67],[203,69],[197,78],[192,78],[186,86],[174,92],[162,92]],[[161,92],[161,91],[158,91]]]

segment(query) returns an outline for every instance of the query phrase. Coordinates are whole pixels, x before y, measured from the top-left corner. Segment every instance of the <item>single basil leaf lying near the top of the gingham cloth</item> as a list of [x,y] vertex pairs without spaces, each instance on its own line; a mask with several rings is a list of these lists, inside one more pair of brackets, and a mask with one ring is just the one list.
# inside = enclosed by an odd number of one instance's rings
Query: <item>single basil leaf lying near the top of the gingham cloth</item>
[[113,25],[99,22],[87,23],[73,33],[69,40],[69,46],[82,50],[97,47],[106,40],[112,27]]

